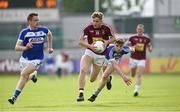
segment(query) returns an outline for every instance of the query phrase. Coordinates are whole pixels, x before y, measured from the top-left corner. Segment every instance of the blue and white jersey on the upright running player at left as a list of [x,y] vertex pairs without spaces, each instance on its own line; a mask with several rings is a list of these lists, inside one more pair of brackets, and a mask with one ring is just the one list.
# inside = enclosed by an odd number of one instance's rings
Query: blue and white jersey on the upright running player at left
[[22,57],[28,60],[42,60],[44,58],[44,41],[48,31],[48,28],[44,26],[39,26],[35,30],[31,30],[30,27],[23,29],[19,34],[18,41],[21,41],[24,46],[31,41],[33,43],[33,47],[23,51]]

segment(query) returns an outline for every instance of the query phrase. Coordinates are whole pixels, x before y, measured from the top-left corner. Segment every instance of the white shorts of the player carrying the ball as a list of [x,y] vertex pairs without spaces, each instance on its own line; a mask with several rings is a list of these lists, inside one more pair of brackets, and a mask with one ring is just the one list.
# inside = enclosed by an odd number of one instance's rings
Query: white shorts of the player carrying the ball
[[105,62],[105,56],[104,55],[98,55],[92,52],[89,49],[86,49],[85,55],[90,56],[93,59],[93,63],[98,65],[98,66],[103,66]]

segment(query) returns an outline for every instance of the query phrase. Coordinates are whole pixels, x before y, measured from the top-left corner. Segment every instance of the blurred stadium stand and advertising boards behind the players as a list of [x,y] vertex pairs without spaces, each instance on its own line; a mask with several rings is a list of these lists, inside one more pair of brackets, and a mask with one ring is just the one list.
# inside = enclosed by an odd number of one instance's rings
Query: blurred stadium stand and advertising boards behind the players
[[[48,26],[54,37],[55,52],[48,55],[45,45],[39,72],[78,73],[84,53],[79,36],[94,10],[102,11],[104,22],[124,38],[135,33],[137,24],[145,25],[154,47],[148,54],[146,73],[180,73],[179,4],[179,0],[0,0],[0,74],[19,72],[20,52],[14,47],[30,12],[39,13],[40,24]],[[119,64],[124,72],[128,72],[128,62],[126,56]]]

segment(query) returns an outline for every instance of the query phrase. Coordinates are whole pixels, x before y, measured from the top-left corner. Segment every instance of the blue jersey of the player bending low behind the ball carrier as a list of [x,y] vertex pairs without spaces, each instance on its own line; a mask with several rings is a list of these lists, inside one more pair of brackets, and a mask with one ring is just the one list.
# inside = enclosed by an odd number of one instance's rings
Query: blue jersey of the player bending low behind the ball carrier
[[120,52],[116,52],[114,49],[114,45],[109,45],[106,52],[106,59],[115,59],[116,61],[120,61],[121,57],[124,54],[128,54],[130,52],[130,48],[128,46],[123,46]]

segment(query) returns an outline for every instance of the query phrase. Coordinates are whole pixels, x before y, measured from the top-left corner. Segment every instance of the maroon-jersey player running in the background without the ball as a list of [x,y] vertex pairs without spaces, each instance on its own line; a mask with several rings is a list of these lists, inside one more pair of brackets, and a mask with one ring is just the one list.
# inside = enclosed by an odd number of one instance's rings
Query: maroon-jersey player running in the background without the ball
[[146,62],[146,49],[148,49],[149,52],[153,50],[150,39],[144,35],[143,24],[137,25],[136,32],[136,35],[129,38],[131,46],[135,47],[135,52],[131,53],[130,58],[131,75],[136,77],[134,96],[138,96],[141,85],[142,73]]

